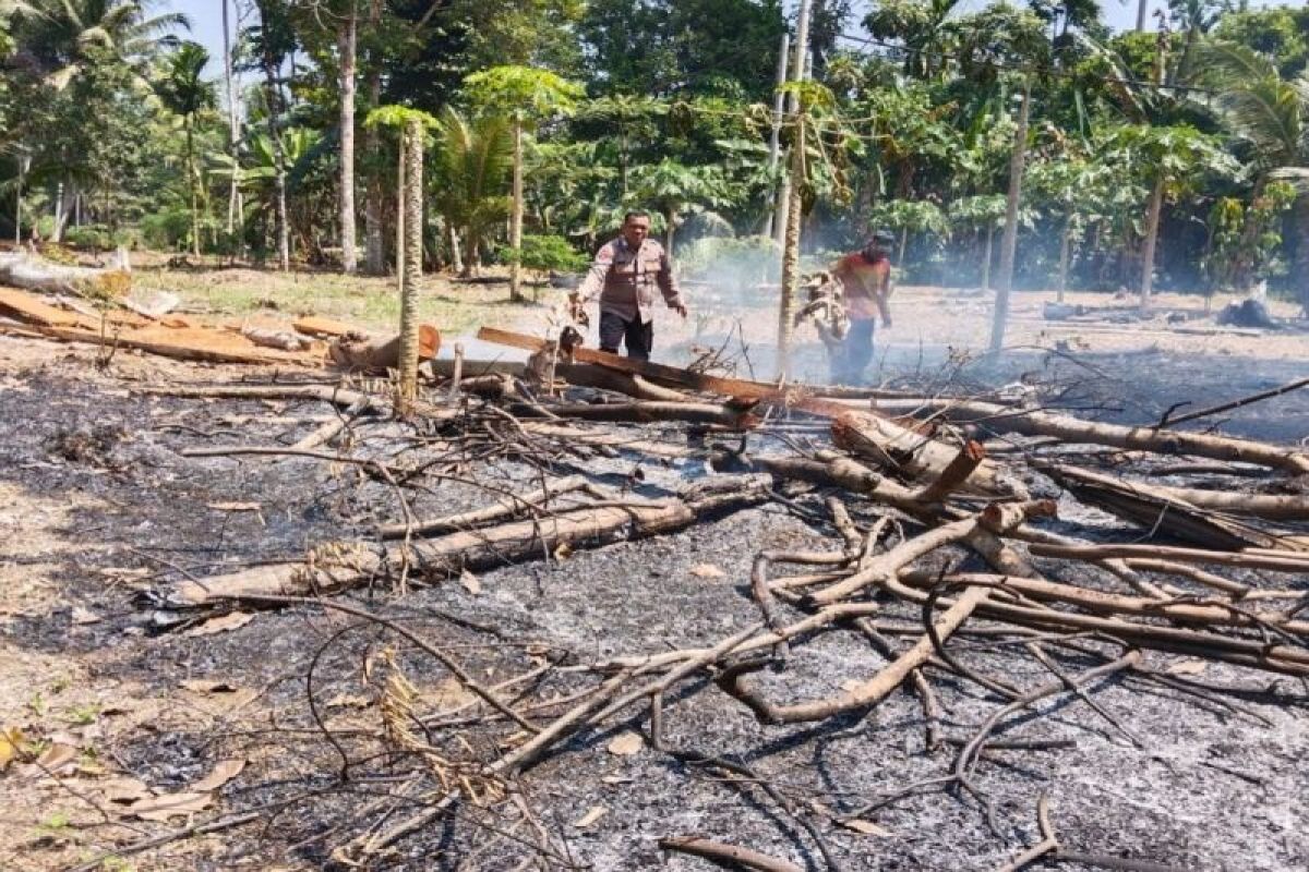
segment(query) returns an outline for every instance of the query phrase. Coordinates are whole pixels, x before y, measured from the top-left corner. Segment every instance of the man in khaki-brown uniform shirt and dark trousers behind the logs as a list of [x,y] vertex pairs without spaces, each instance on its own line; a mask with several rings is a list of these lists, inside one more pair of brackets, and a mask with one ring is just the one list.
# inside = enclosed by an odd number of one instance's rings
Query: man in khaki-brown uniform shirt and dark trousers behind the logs
[[623,216],[622,235],[596,252],[596,261],[581,286],[571,297],[573,315],[600,295],[600,349],[649,360],[654,345],[654,292],[664,303],[686,318],[686,303],[673,276],[664,246],[649,238],[651,217],[645,212]]

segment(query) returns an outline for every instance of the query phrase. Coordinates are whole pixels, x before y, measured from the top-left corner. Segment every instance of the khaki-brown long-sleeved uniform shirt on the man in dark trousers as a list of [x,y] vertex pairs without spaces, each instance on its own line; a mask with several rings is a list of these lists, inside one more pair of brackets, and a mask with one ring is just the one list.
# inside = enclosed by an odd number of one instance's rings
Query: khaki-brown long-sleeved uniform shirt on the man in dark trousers
[[640,319],[644,324],[654,316],[656,289],[669,309],[682,303],[664,246],[645,239],[640,248],[632,250],[627,239],[618,237],[596,252],[596,261],[577,295],[588,303],[600,294],[600,311],[613,312],[623,320]]

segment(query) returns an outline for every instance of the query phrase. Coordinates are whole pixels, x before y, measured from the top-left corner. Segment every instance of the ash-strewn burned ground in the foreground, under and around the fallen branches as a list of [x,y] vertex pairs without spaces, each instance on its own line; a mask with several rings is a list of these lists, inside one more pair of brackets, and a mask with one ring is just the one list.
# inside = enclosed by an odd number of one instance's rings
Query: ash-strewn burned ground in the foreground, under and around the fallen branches
[[[302,560],[329,541],[370,543],[377,523],[401,516],[394,488],[364,467],[179,454],[289,444],[332,416],[330,407],[151,395],[143,388],[243,374],[137,358],[102,374],[89,353],[41,348],[7,370],[0,392],[0,726],[22,728],[33,753],[68,745],[76,758],[60,763],[58,778],[18,762],[0,777],[7,817],[16,824],[0,845],[7,868],[72,868],[118,846],[188,824],[230,822],[243,812],[253,817],[240,826],[175,838],[103,868],[321,868],[361,834],[431,807],[444,792],[442,778],[461,800],[373,855],[370,868],[711,868],[658,847],[661,838],[686,834],[749,846],[800,868],[835,868],[825,865],[808,825],[846,869],[991,869],[1041,839],[1041,795],[1068,851],[1190,869],[1299,869],[1309,862],[1304,686],[1158,651],[1145,652],[1147,664],[1249,693],[1183,692],[1118,675],[1086,688],[1098,711],[1063,694],[1007,719],[1004,740],[1056,744],[986,752],[974,778],[995,803],[995,830],[978,797],[957,790],[924,788],[860,812],[945,774],[957,753],[950,741],[969,739],[1004,705],[940,668],[925,669],[942,709],[946,743],[936,749],[925,748],[923,705],[910,684],[868,711],[766,726],[708,680],[692,677],[664,701],[662,749],[651,745],[647,707],[635,705],[512,777],[517,799],[503,799],[507,786],[483,779],[478,763],[524,735],[393,626],[296,604],[246,609],[253,620],[200,635],[213,629],[206,624],[213,613],[192,624],[174,612],[165,621],[158,599],[148,599],[188,577]],[[423,430],[368,426],[351,450],[406,461],[428,450]],[[660,435],[686,444],[675,425]],[[588,473],[619,499],[657,498],[708,477],[699,458],[607,454],[559,451],[556,463],[562,472]],[[486,485],[525,490],[541,475],[539,461],[501,454],[461,468],[483,486],[445,481],[411,489],[415,516],[476,507],[487,502]],[[1033,486],[1034,495],[1056,493],[1049,481]],[[822,492],[784,493],[785,499],[673,536],[556,550],[462,582],[415,578],[412,590],[399,592],[390,571],[334,601],[419,634],[484,685],[531,676],[505,694],[524,711],[539,711],[539,720],[531,718],[545,724],[568,707],[546,703],[594,686],[593,675],[579,668],[584,664],[713,645],[758,621],[747,582],[755,553],[830,550],[835,541]],[[874,503],[850,505],[864,528],[884,514]],[[1051,529],[1076,524],[1115,541],[1139,537],[1110,515],[1067,501],[1063,509]],[[901,523],[906,536],[920,531]],[[925,565],[980,566],[971,560],[945,550]],[[1067,562],[1038,561],[1038,569],[1090,588],[1110,584],[1105,573]],[[1287,574],[1232,577],[1302,586]],[[783,608],[787,621],[801,614]],[[174,622],[179,616],[182,625]],[[895,651],[922,633],[920,609],[895,600],[885,601],[878,621]],[[986,635],[995,626],[974,620],[969,628],[977,634],[957,635],[950,650],[1009,685],[1047,681],[1050,673],[1021,645]],[[1062,651],[1058,662],[1080,672],[1113,650],[1089,639],[1084,652]],[[798,702],[838,694],[886,663],[864,634],[829,630],[796,645],[784,668],[774,663],[751,680],[776,702]],[[387,719],[387,706],[427,723]],[[442,714],[450,711],[457,714]],[[615,744],[628,732],[641,740]],[[425,749],[406,748],[406,735]],[[732,777],[708,762],[713,758],[753,774]],[[183,792],[225,760],[246,763],[211,805],[169,824],[124,816],[126,804],[113,799],[123,778],[154,794]]]

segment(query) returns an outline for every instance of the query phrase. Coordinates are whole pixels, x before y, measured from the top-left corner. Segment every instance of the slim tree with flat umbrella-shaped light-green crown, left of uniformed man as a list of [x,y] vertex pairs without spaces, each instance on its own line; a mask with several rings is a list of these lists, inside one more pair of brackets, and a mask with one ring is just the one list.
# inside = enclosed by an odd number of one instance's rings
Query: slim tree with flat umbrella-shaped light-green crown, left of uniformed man
[[522,248],[522,136],[537,122],[568,115],[585,93],[583,86],[534,67],[492,67],[465,80],[474,99],[483,107],[508,111],[513,123],[513,212],[509,216],[509,297],[522,299],[522,268],[517,256]]

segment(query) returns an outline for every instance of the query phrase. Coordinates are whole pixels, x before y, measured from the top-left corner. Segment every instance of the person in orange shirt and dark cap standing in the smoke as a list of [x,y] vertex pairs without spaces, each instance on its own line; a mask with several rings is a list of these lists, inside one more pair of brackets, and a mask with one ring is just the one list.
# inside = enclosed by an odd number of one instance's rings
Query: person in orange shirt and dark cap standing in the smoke
[[846,297],[846,315],[850,331],[831,361],[833,380],[838,384],[857,384],[873,360],[873,331],[877,316],[882,327],[891,326],[891,261],[888,252],[895,237],[878,230],[864,246],[836,261],[833,276],[840,281]]

